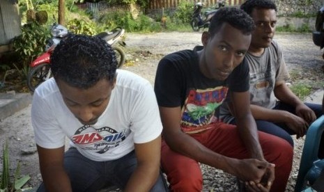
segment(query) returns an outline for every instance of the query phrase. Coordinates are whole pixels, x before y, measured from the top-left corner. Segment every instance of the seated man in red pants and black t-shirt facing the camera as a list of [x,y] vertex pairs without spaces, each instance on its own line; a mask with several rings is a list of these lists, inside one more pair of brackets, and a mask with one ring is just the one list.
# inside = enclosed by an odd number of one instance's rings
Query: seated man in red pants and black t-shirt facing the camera
[[[203,46],[162,58],[155,95],[163,124],[162,168],[171,191],[201,191],[199,163],[224,170],[249,191],[284,191],[293,147],[256,130],[249,108],[249,49],[254,22],[238,8],[220,8]],[[233,102],[237,127],[219,120],[219,106]]]

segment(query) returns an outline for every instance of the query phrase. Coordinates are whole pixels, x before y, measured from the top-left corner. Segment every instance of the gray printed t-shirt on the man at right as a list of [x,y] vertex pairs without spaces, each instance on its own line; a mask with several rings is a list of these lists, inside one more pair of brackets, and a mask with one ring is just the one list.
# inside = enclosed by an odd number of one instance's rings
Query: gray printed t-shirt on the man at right
[[[282,51],[277,42],[272,40],[270,47],[264,49],[261,56],[245,55],[249,63],[249,92],[251,104],[272,109],[276,104],[275,83],[289,79],[288,70]],[[230,98],[229,98],[230,100]],[[224,122],[231,122],[233,116],[224,103],[220,109],[220,117]]]

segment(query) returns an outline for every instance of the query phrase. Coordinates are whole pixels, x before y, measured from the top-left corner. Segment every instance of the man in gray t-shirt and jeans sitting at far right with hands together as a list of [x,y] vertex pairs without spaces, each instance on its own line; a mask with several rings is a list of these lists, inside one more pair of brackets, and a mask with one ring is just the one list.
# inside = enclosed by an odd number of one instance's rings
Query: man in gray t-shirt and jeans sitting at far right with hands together
[[[322,115],[321,105],[304,104],[286,86],[289,74],[277,42],[272,40],[277,7],[270,0],[249,0],[240,7],[256,24],[245,58],[249,63],[251,111],[260,131],[284,138],[293,145],[292,134],[300,138]],[[231,101],[220,110],[224,122],[235,124]]]

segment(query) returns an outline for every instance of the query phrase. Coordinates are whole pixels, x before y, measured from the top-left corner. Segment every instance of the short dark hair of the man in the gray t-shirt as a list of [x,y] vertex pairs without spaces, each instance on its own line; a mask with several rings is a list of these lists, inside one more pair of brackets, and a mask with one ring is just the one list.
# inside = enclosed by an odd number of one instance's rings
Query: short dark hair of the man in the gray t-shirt
[[254,8],[274,9],[277,12],[277,6],[272,0],[247,0],[240,6],[247,14],[251,15]]

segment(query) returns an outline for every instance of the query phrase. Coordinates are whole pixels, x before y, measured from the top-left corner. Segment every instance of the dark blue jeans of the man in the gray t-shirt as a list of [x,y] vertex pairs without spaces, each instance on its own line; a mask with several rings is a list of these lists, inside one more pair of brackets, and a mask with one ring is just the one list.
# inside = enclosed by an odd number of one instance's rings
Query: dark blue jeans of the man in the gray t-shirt
[[[314,111],[316,114],[316,117],[320,117],[323,115],[322,112],[322,106],[320,104],[310,104],[310,103],[305,103],[311,110]],[[283,111],[288,111],[290,113],[296,114],[295,113],[295,107],[286,104],[284,102],[277,102],[277,105],[273,108],[276,110],[283,110]],[[235,125],[236,121],[232,120],[230,124]],[[256,126],[259,131],[263,131],[267,134],[272,134],[275,136],[278,136],[280,138],[284,138],[284,140],[288,141],[293,146],[293,138],[291,135],[295,135],[295,132],[285,124],[285,123],[275,123],[275,122],[269,122],[266,120],[256,120]]]

